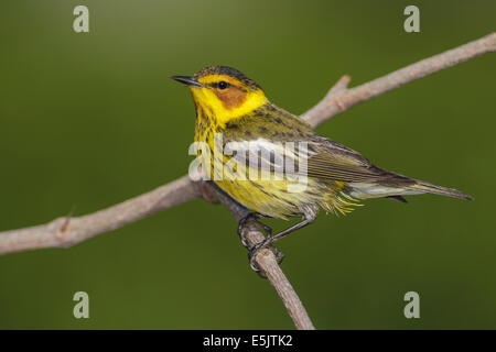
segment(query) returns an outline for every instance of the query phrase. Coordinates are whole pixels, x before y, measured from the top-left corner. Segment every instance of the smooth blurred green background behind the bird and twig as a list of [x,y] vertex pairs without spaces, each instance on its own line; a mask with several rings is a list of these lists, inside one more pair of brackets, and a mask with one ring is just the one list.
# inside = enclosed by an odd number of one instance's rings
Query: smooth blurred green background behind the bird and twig
[[[89,8],[90,33],[73,31]],[[302,113],[496,30],[495,1],[0,2],[0,230],[96,211],[187,170],[194,108],[169,77],[234,66]],[[281,241],[321,329],[496,328],[496,54],[354,107],[317,132],[475,197],[370,200]],[[288,226],[269,221],[274,229]],[[90,318],[73,317],[75,292]],[[403,316],[420,294],[420,319]],[[0,328],[293,328],[226,209],[195,200],[71,249],[0,256]]]

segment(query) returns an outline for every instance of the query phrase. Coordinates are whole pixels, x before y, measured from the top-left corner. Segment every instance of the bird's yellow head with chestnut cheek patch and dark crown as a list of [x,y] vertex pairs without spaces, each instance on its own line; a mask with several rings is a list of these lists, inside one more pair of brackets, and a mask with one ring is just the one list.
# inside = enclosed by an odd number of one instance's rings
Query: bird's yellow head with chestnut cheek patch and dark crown
[[173,76],[190,87],[196,109],[218,123],[245,116],[267,102],[263,90],[235,68],[211,66],[194,76]]

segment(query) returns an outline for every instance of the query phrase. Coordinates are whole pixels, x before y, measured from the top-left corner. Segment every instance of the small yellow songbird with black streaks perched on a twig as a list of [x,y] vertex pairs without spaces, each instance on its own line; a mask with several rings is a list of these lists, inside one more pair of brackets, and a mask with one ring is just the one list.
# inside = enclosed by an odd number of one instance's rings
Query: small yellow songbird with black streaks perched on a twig
[[[302,217],[276,235],[262,224],[268,237],[251,249],[252,267],[258,250],[314,221],[320,208],[346,213],[364,199],[406,202],[402,196],[420,194],[472,199],[460,190],[379,168],[316,134],[305,121],[271,103],[260,86],[237,69],[212,66],[172,78],[193,95],[194,139],[204,145],[197,148],[202,166],[224,193],[255,211],[240,221],[238,231],[247,220],[258,222],[260,217]],[[223,153],[216,154],[218,150]]]

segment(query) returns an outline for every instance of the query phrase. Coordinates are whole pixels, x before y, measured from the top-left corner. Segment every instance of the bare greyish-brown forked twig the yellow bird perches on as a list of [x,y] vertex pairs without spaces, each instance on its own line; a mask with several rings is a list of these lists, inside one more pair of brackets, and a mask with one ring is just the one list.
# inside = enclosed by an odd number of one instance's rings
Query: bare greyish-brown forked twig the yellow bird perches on
[[[355,88],[347,88],[351,79],[348,76],[344,76],[324,99],[306,111],[302,118],[312,127],[316,127],[359,102],[492,52],[496,52],[496,33],[420,61]],[[148,194],[91,215],[78,218],[58,218],[42,226],[0,232],[0,254],[42,248],[69,246],[194,198],[205,198],[209,201],[219,200],[237,220],[247,212],[245,208],[228,197],[219,195],[209,184],[193,183],[187,176],[183,176]],[[263,240],[263,234],[256,227],[248,226],[245,231],[246,240],[250,245]],[[313,329],[303,305],[280,270],[273,252],[270,249],[260,251],[257,254],[256,263],[266,273],[281,297],[295,327],[298,329]]]

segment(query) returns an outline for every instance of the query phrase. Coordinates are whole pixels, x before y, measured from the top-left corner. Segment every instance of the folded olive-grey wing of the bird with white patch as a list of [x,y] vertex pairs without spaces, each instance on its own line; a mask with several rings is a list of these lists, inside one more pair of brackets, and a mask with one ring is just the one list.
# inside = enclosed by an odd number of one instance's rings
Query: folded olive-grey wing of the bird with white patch
[[246,152],[235,153],[237,162],[248,166],[248,160],[257,161],[252,165],[265,169],[282,167],[287,175],[306,174],[344,183],[396,183],[407,178],[373,165],[358,152],[316,134],[300,118],[276,109],[226,129],[225,141]]

